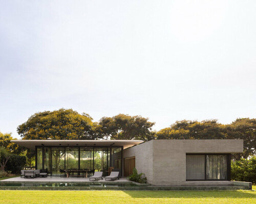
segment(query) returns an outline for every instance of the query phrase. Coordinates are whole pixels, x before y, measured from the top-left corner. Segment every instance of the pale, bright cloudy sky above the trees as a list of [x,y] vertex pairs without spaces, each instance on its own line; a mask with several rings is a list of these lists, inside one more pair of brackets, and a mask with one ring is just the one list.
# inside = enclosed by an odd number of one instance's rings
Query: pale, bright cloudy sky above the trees
[[0,0],[0,131],[72,108],[156,122],[256,117],[256,1]]

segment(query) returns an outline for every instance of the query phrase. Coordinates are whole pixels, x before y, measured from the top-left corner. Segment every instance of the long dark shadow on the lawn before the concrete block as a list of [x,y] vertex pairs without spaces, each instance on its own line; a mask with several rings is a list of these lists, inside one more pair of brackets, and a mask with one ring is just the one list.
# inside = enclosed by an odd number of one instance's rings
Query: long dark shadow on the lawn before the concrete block
[[131,197],[143,198],[256,198],[253,191],[123,191]]

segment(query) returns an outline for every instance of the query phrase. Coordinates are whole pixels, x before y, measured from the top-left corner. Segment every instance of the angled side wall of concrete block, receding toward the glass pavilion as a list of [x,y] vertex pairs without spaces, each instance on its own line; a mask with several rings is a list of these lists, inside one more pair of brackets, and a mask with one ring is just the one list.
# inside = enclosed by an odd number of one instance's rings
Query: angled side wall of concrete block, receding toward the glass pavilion
[[153,183],[153,141],[123,150],[123,158],[135,157],[135,167],[145,173],[148,183]]

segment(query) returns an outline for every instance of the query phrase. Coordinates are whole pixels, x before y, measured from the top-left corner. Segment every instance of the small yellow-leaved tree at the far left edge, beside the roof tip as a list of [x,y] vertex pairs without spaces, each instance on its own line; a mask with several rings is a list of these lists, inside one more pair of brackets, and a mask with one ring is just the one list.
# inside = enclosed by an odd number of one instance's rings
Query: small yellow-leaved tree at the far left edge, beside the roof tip
[[11,137],[11,133],[1,133],[0,132],[0,146],[7,149],[9,152],[19,155],[24,151],[23,147],[11,142],[11,140],[16,140],[16,138]]

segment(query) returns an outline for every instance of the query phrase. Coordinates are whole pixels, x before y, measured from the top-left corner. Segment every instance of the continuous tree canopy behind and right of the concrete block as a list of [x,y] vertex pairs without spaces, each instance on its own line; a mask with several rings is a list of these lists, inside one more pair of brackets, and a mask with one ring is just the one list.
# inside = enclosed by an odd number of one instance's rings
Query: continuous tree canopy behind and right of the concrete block
[[176,121],[158,131],[157,139],[243,139],[244,152],[233,157],[247,159],[256,153],[256,119],[238,118],[231,124],[221,124],[217,120]]

